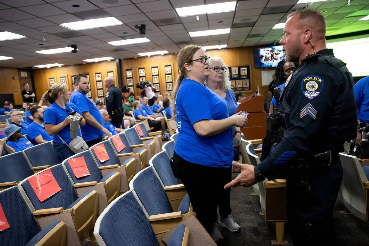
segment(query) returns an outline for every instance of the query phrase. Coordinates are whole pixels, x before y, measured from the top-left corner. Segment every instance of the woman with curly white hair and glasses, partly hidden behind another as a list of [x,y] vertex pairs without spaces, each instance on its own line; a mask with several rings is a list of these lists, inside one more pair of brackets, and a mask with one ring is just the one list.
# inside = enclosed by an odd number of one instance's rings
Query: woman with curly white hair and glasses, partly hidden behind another
[[[231,80],[227,75],[228,67],[223,60],[218,57],[212,57],[209,62],[210,75],[207,77],[205,84],[210,90],[214,91],[228,103],[228,114],[237,113],[238,103],[234,92],[231,89]],[[232,127],[233,138],[233,160],[239,161],[239,145],[241,145],[241,128]],[[236,172],[236,170],[234,170]],[[232,180],[232,167],[224,169],[221,173],[220,180],[222,183],[229,183]],[[220,220],[219,225],[226,227],[231,232],[236,232],[240,228],[231,216],[231,189],[222,189],[218,194],[218,207]]]

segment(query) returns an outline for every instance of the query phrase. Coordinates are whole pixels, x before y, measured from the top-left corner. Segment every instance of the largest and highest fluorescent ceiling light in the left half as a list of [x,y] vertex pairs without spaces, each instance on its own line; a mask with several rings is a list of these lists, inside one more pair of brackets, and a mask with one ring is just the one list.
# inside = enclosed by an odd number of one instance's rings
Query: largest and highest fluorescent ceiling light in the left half
[[112,25],[120,25],[123,24],[120,20],[115,17],[105,17],[105,18],[97,18],[85,21],[75,21],[75,22],[68,22],[60,24],[63,27],[72,29],[72,30],[84,30],[90,28],[97,28],[97,27],[108,27]]

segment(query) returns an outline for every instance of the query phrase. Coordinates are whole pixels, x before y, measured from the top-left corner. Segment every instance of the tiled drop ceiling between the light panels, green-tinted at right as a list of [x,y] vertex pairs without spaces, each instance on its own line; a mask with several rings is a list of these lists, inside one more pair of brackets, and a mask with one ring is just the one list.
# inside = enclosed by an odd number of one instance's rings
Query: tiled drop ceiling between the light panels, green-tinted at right
[[[323,11],[327,36],[369,29],[369,21],[358,21],[369,14],[368,0],[352,0],[350,6],[346,0],[311,5],[296,4],[298,0],[245,0],[237,1],[235,11],[199,15],[198,21],[196,16],[179,18],[175,11],[177,7],[224,1],[227,0],[118,0],[115,4],[104,4],[103,0],[0,0],[0,31],[27,37],[0,41],[0,55],[15,58],[1,61],[0,66],[73,65],[83,63],[83,59],[103,56],[117,59],[132,58],[139,52],[167,50],[175,53],[187,44],[227,44],[229,48],[273,44],[282,37],[282,29],[272,30],[272,27],[284,22],[287,13],[307,6]],[[71,31],[59,25],[110,16],[124,24],[81,31]],[[137,24],[146,25],[145,35],[140,35],[134,28]],[[188,35],[192,31],[220,28],[232,28],[231,33],[194,38]],[[123,46],[107,44],[140,37],[147,37],[151,42]],[[76,44],[79,52],[35,53],[69,44]]]

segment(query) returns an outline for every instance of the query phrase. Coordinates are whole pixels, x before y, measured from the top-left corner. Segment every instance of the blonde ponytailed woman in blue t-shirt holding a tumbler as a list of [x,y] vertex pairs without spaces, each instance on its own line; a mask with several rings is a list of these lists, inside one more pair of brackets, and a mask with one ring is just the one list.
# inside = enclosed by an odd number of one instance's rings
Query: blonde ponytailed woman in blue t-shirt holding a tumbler
[[[65,83],[57,83],[53,84],[43,96],[45,101],[51,104],[44,111],[45,130],[47,134],[52,136],[52,147],[59,162],[75,154],[66,145],[72,141],[69,129],[70,113],[75,112],[74,115],[80,117],[79,124],[81,126],[86,124],[82,112],[76,104],[69,103],[71,94]],[[80,131],[77,131],[77,136],[82,137]],[[61,138],[66,144],[63,143]]]

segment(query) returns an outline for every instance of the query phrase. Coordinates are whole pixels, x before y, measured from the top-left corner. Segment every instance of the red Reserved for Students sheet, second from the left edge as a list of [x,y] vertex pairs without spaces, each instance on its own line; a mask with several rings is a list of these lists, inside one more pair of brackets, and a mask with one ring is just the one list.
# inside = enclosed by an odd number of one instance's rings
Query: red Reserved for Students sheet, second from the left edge
[[40,202],[62,190],[50,169],[30,177],[28,181]]

